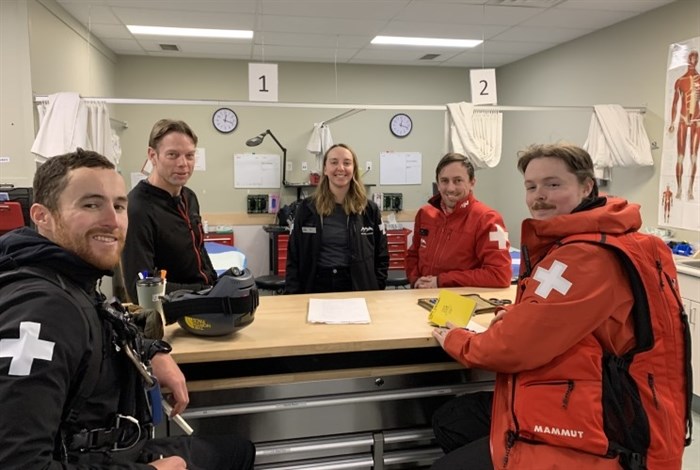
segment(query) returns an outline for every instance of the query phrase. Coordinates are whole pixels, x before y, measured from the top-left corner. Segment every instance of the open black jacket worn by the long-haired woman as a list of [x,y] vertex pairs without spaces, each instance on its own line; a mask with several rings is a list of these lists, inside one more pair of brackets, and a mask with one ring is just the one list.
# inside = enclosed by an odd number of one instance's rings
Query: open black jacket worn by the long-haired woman
[[[306,198],[296,210],[287,247],[285,292],[313,292],[321,253],[323,224],[313,198]],[[383,290],[386,287],[389,253],[382,214],[373,201],[367,201],[361,214],[348,218],[348,250],[352,290]]]

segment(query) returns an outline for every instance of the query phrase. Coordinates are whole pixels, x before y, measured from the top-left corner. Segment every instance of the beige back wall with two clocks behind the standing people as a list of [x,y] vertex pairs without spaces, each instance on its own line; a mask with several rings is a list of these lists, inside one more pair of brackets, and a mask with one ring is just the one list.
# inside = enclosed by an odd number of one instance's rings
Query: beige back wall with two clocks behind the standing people
[[[468,74],[464,69],[436,67],[338,66],[336,95],[332,64],[279,64],[279,98],[282,102],[359,103],[359,104],[433,104],[441,105],[468,99]],[[157,57],[120,57],[117,68],[120,97],[238,100],[248,99],[248,63],[243,61],[171,59]],[[119,105],[116,116],[128,121],[122,134],[125,173],[138,171],[146,157],[148,134],[153,123],[163,117],[183,119],[198,134],[206,149],[207,170],[197,172],[191,186],[199,195],[203,211],[245,212],[246,195],[251,192],[233,188],[233,155],[255,151],[276,153],[272,139],[255,148],[245,141],[270,129],[288,149],[293,171],[292,182],[307,182],[317,167],[315,157],[306,150],[314,122],[330,119],[345,109],[301,109],[235,107],[238,128],[223,135],[211,124],[217,105]],[[442,156],[442,111],[406,111],[414,123],[413,132],[398,139],[389,132],[389,119],[396,111],[367,110],[330,125],[333,140],[349,144],[358,154],[362,168],[367,160],[374,170],[363,177],[365,183],[379,183],[379,153],[385,150],[417,151],[423,155],[423,184],[372,188],[372,191],[401,192],[404,207],[417,208],[431,193],[434,169]],[[306,162],[309,170],[302,172]],[[296,197],[294,189],[282,190],[283,203]]]

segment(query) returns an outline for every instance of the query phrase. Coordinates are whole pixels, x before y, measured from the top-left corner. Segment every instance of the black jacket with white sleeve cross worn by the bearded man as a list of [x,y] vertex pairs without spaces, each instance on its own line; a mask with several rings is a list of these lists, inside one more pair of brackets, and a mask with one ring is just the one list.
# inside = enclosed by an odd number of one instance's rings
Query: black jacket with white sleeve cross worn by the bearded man
[[[40,266],[80,286],[95,302],[97,281],[107,271],[100,271],[76,255],[23,228],[0,237],[0,269],[8,266]],[[55,441],[62,422],[62,412],[71,393],[85,376],[91,354],[101,354],[96,386],[83,406],[81,421],[75,428],[110,427],[119,407],[120,389],[131,371],[123,354],[118,355],[104,328],[101,351],[93,351],[91,328],[77,309],[75,298],[52,282],[33,277],[0,286],[0,468],[81,468],[63,466],[56,460]],[[94,312],[97,315],[97,309]],[[9,346],[30,327],[38,331],[25,337],[41,344],[31,356],[31,367],[13,368],[17,351]],[[99,342],[98,342],[99,343]],[[27,343],[28,344],[28,343]],[[1,346],[7,345],[8,348]],[[28,346],[25,344],[26,357]],[[9,353],[9,354],[6,354]],[[85,468],[85,467],[82,467]],[[104,464],[90,468],[151,468],[145,464]]]

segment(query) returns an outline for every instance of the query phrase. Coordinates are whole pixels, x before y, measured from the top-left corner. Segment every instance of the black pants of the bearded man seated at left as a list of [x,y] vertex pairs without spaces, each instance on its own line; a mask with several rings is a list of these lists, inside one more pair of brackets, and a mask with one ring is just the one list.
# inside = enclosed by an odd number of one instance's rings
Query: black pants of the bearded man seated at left
[[236,436],[178,436],[153,439],[144,446],[140,462],[177,455],[188,470],[252,470],[255,446]]

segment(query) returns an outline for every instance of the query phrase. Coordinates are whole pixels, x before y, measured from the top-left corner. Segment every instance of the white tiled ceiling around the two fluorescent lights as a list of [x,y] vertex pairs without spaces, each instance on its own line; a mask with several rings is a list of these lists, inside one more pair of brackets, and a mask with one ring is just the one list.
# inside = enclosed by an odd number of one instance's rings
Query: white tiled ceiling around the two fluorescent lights
[[[499,67],[674,0],[57,1],[119,55]],[[127,24],[245,29],[254,39],[136,37]],[[376,35],[485,42],[474,49],[370,44]],[[439,55],[421,60],[426,54]]]

